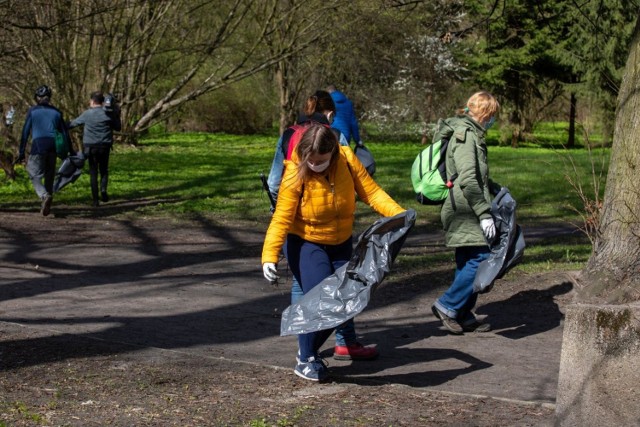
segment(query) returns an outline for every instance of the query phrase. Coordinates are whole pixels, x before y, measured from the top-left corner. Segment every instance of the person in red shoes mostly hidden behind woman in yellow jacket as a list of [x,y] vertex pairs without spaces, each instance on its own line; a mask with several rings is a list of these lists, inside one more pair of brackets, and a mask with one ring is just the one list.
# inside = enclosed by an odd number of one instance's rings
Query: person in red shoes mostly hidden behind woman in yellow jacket
[[[284,161],[291,160],[287,157],[292,153],[294,145],[300,140],[300,135],[311,123],[319,123],[330,126],[331,120],[335,116],[336,108],[328,92],[318,90],[305,102],[303,114],[298,118],[296,126],[289,127],[278,140],[276,152],[267,179],[269,192],[273,200],[278,199],[278,191],[282,181],[284,171]],[[333,128],[332,128],[333,129]],[[298,133],[296,133],[298,130]],[[337,130],[333,129],[339,138],[340,145],[348,146],[347,140]],[[304,295],[300,283],[293,277],[291,283],[291,304],[295,304]],[[333,349],[333,357],[338,360],[371,360],[378,357],[378,349],[373,345],[363,345],[357,339],[355,322],[353,319],[336,328],[336,345]]]

